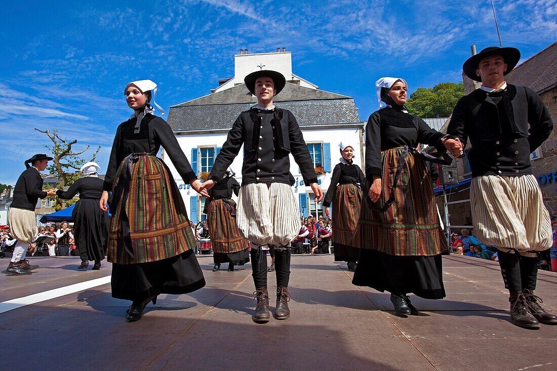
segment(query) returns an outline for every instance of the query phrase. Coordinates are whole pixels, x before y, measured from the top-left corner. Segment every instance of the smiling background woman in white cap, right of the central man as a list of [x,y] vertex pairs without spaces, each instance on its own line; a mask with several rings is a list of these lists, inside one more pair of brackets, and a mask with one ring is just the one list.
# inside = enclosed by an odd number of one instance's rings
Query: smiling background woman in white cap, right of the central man
[[[329,206],[333,203],[333,245],[335,261],[348,262],[348,269],[356,269],[360,255],[357,247],[350,245],[350,239],[356,230],[361,207],[361,188],[364,186],[364,173],[354,164],[354,147],[339,143],[340,163],[333,169],[331,185],[325,194],[323,206],[325,216],[330,218]],[[338,184],[338,186],[337,186]]]

